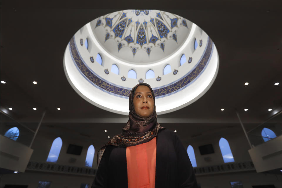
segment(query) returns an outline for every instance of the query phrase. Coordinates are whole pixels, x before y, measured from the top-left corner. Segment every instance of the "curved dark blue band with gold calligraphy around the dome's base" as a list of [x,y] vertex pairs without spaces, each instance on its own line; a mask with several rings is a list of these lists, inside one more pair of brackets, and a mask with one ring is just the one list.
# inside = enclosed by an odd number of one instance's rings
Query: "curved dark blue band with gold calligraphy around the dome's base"
[[[208,38],[204,53],[202,54],[197,64],[187,74],[185,74],[178,80],[175,80],[174,82],[169,83],[167,85],[152,88],[155,93],[155,98],[163,98],[172,95],[176,92],[183,90],[184,88],[187,88],[195,80],[197,80],[197,78],[199,78],[199,76],[201,76],[204,70],[207,68],[210,58],[212,57],[213,49],[214,44],[212,42],[212,39]],[[80,56],[80,53],[78,52],[74,36],[70,39],[69,50],[76,68],[78,69],[80,74],[86,80],[88,80],[89,83],[110,95],[128,99],[131,88],[126,88],[120,85],[110,83],[109,81],[101,78],[93,70],[91,70],[89,66],[87,66],[87,64],[83,61],[82,57]]]

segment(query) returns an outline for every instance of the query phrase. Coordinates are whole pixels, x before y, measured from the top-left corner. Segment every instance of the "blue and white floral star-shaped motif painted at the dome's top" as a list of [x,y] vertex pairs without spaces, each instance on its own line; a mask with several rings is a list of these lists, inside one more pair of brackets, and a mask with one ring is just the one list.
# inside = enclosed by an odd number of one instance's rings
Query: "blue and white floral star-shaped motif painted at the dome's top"
[[95,28],[97,27],[105,28],[105,42],[114,39],[118,51],[128,46],[133,56],[137,51],[145,50],[149,57],[155,47],[164,52],[168,40],[177,43],[178,28],[188,28],[186,19],[157,10],[114,12],[98,18]]

